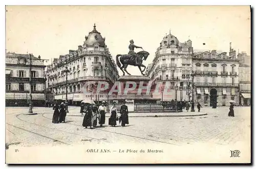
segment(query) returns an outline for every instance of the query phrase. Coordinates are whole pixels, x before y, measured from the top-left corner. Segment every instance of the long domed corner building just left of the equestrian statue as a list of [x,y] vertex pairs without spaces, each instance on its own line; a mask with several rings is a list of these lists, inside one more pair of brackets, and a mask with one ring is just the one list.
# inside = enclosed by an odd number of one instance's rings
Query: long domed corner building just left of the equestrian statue
[[[94,29],[85,37],[83,45],[77,50],[69,50],[66,55],[60,55],[53,63],[47,66],[47,87],[54,94],[55,100],[66,99],[66,73],[68,68],[68,100],[70,105],[79,105],[81,100],[108,99],[106,92],[96,94],[97,83],[106,81],[112,87],[119,78],[117,66],[105,45],[105,38]],[[89,86],[84,94],[83,86],[88,81],[95,81],[96,85]]]

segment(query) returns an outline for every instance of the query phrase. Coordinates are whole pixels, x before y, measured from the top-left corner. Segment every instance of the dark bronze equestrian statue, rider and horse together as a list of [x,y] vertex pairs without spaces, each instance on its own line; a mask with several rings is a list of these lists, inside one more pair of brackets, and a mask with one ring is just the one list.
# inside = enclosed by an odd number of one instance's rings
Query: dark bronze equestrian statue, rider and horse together
[[[121,69],[121,71],[123,72],[123,76],[125,75],[124,71],[131,75],[129,72],[127,72],[126,68],[128,65],[132,65],[132,66],[138,66],[138,68],[140,69],[140,72],[142,75],[143,72],[146,69],[146,66],[142,64],[143,61],[145,61],[148,57],[148,55],[150,55],[150,53],[148,53],[147,51],[139,51],[138,53],[134,52],[134,48],[141,48],[143,50],[142,47],[136,46],[134,44],[133,40],[130,40],[130,45],[129,45],[129,52],[128,54],[117,54],[116,55],[116,63],[117,66]],[[119,62],[119,58],[120,57],[120,62]],[[122,66],[121,66],[122,64]],[[143,67],[144,69],[141,70],[141,67]],[[124,71],[123,71],[124,69]]]

